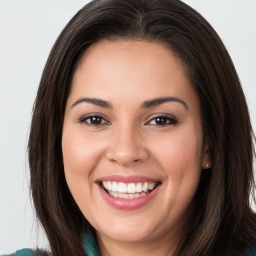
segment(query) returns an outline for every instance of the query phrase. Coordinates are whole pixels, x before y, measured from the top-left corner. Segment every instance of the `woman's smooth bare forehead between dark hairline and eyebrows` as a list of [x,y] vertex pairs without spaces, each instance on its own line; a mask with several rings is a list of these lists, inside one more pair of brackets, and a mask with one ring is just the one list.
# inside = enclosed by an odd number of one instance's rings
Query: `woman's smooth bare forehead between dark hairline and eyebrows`
[[196,97],[183,61],[163,44],[142,40],[103,40],[89,47],[72,81],[71,94],[79,93],[107,100]]

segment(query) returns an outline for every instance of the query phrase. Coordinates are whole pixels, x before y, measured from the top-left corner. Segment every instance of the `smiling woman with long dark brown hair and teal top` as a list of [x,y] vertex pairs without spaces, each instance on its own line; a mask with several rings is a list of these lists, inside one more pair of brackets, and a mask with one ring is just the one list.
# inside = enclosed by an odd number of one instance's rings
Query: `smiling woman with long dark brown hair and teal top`
[[253,140],[233,63],[197,12],[91,2],[50,53],[31,124],[52,255],[255,255]]

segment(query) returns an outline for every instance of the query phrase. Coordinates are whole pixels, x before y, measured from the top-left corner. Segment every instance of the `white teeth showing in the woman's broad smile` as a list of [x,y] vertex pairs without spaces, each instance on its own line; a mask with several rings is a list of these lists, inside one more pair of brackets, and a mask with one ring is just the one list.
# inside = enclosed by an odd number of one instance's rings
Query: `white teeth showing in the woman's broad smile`
[[[115,194],[130,194],[134,197],[139,197],[143,193],[149,193],[151,190],[155,188],[157,182],[138,182],[138,183],[123,183],[123,182],[115,182],[115,181],[103,181],[103,187],[113,196]],[[117,192],[113,194],[112,192]],[[143,193],[142,193],[143,192]],[[131,198],[129,197],[128,198]],[[119,196],[118,196],[119,197]],[[125,197],[126,198],[126,197]]]

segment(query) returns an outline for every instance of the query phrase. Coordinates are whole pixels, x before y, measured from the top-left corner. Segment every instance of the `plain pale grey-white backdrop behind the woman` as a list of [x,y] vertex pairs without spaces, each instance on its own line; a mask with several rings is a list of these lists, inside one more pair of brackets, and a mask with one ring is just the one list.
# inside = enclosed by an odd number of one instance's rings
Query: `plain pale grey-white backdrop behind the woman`
[[[0,254],[47,247],[28,189],[26,146],[31,110],[54,41],[87,2],[0,0]],[[242,82],[255,131],[256,1],[184,2],[198,10],[224,41]]]

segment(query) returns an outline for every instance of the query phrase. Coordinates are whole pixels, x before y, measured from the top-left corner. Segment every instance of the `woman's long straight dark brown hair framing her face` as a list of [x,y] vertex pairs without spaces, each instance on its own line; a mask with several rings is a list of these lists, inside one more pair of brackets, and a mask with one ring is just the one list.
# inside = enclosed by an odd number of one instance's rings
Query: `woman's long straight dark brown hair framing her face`
[[238,256],[256,242],[250,209],[254,135],[232,60],[210,24],[179,0],[95,0],[67,24],[49,55],[36,97],[28,144],[31,191],[54,256],[85,255],[92,229],[66,184],[61,138],[76,64],[102,39],[163,43],[187,67],[198,94],[212,167],[202,170],[188,231],[175,255]]

